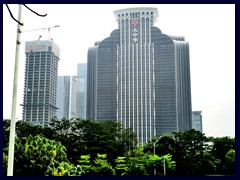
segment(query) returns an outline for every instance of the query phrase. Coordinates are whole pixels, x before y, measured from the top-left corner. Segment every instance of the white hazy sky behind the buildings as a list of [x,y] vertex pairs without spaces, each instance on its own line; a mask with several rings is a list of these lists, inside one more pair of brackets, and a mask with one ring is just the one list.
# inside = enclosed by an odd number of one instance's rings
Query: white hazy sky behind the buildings
[[[235,5],[167,4],[28,4],[24,6],[24,30],[52,28],[50,37],[60,47],[59,75],[77,75],[77,64],[87,62],[87,50],[117,28],[113,11],[131,7],[155,7],[155,26],[168,35],[185,36],[190,44],[192,110],[202,111],[207,136],[235,136]],[[18,5],[10,4],[18,18]],[[3,118],[11,117],[17,23],[3,6]],[[17,119],[22,119],[25,41],[48,38],[48,31],[21,34]]]

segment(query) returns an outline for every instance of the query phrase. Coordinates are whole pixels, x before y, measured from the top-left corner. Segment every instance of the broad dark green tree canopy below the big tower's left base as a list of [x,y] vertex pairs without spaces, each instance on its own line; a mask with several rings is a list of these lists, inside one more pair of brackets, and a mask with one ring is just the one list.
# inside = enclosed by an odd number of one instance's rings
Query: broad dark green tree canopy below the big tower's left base
[[90,154],[91,163],[97,153],[108,154],[108,161],[133,148],[136,136],[131,129],[124,129],[115,121],[96,122],[82,119],[52,119],[51,128],[56,132],[54,139],[67,148],[68,159],[78,164],[79,155]]

